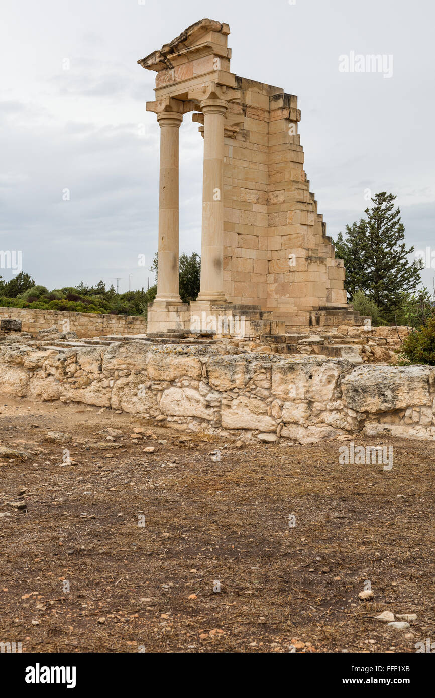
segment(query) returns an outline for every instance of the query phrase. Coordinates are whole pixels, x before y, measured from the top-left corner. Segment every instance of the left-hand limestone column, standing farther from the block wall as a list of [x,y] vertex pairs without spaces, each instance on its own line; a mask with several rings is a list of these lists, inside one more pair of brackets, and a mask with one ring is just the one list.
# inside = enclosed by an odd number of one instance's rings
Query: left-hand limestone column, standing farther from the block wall
[[155,303],[181,303],[178,284],[178,112],[157,113],[160,126],[160,193],[158,198],[158,269]]

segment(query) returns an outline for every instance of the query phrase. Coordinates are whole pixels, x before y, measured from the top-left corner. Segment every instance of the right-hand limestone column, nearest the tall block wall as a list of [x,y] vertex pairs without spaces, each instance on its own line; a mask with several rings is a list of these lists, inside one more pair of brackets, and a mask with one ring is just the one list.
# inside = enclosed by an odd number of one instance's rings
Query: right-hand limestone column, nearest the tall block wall
[[201,102],[204,114],[201,287],[198,301],[221,302],[223,292],[223,128],[228,103]]

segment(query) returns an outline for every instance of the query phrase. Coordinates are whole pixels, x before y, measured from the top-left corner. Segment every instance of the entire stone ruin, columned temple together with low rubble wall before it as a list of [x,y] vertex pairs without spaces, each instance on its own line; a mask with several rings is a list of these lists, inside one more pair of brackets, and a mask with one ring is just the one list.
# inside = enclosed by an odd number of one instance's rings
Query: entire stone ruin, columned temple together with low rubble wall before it
[[[124,323],[121,334],[79,339],[59,332],[57,316],[39,332],[7,318],[1,392],[121,410],[207,438],[434,440],[435,370],[385,365],[397,363],[408,329],[371,327],[346,304],[343,262],[303,170],[297,100],[230,73],[228,34],[228,24],[201,20],[139,61],[157,72],[147,109],[161,127],[147,334],[132,323],[126,335]],[[178,134],[189,111],[205,139],[202,257],[198,300],[182,304]],[[27,311],[20,318],[38,327]]]

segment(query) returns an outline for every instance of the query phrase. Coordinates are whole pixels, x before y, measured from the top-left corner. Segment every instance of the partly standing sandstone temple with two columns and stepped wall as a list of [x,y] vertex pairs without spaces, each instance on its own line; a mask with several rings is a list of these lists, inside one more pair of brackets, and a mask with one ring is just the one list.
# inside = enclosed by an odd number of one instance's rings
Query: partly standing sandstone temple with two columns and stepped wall
[[[251,334],[362,324],[346,303],[304,172],[297,97],[230,70],[230,28],[200,20],[138,63],[155,70],[161,133],[158,290],[148,331],[189,330],[193,316],[243,315]],[[193,113],[204,137],[201,285],[178,291],[179,127]]]

